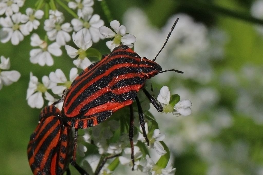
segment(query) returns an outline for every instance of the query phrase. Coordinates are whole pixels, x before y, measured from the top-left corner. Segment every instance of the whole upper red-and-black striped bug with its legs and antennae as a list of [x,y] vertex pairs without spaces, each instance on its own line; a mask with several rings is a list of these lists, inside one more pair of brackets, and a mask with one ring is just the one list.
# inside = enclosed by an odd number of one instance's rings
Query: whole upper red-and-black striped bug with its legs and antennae
[[[166,45],[177,22],[178,19],[172,26],[161,50]],[[144,127],[143,110],[136,95],[142,89],[154,107],[159,112],[162,112],[163,108],[161,105],[144,88],[146,80],[167,71],[183,73],[174,69],[161,71],[161,66],[155,62],[156,57],[152,61],[145,57],[141,58],[128,46],[120,45],[109,55],[104,56],[101,61],[93,63],[86,68],[73,81],[65,96],[62,108],[63,121],[75,128],[73,160],[75,160],[78,129],[102,123],[114,112],[129,105],[131,113],[129,139],[132,149],[131,160],[134,164],[133,109],[131,104],[136,100],[140,126],[149,145]]]

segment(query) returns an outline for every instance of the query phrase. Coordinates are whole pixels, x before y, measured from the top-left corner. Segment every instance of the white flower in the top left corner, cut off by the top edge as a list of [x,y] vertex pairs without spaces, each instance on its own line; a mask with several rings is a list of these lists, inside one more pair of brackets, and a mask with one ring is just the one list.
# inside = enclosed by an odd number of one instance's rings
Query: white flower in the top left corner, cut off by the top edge
[[19,7],[22,7],[24,3],[19,3],[18,0],[2,0],[0,2],[0,15],[4,13],[6,16],[11,16],[13,13],[17,13],[19,11]]

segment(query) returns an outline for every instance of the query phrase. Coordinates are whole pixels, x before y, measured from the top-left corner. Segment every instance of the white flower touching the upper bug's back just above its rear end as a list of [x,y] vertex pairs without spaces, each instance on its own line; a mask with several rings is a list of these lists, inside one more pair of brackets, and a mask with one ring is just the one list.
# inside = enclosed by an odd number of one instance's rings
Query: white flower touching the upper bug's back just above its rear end
[[78,76],[78,70],[77,68],[74,67],[69,72],[69,81],[67,80],[65,74],[60,69],[57,69],[55,72],[50,72],[49,73],[50,80],[54,83],[59,83],[59,85],[51,88],[52,92],[54,94],[58,94],[59,96],[62,96],[64,89],[69,88],[71,83],[74,81],[74,79],[77,76]]

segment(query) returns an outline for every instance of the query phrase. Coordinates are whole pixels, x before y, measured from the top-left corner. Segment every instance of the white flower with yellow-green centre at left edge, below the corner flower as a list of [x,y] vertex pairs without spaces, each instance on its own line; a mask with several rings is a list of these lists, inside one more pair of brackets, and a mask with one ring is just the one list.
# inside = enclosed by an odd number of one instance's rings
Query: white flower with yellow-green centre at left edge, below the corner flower
[[13,14],[10,18],[0,18],[0,40],[2,43],[7,43],[11,40],[13,45],[18,45],[24,39],[24,36],[29,35],[29,31],[25,25],[21,25],[21,13]]

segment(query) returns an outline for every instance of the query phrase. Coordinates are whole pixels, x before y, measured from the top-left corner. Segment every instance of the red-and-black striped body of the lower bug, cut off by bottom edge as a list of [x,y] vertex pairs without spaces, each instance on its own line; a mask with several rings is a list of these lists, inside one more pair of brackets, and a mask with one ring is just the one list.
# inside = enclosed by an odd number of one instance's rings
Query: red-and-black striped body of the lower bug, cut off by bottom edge
[[45,107],[28,144],[33,174],[63,174],[72,156],[72,140],[72,131],[63,126],[60,110],[53,105]]

